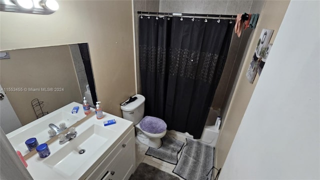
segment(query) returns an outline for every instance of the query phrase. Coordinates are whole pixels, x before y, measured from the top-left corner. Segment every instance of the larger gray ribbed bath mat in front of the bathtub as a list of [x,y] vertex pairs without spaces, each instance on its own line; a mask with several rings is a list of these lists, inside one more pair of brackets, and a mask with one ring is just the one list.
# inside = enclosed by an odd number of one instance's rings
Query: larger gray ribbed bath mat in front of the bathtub
[[186,138],[178,163],[173,172],[186,180],[211,179],[214,148]]

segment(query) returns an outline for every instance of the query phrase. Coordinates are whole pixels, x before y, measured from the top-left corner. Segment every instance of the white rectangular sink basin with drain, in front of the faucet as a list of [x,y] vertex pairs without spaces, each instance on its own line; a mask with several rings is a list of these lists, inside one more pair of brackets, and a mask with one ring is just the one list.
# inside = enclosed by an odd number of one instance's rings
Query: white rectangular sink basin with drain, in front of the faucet
[[[77,129],[76,129],[77,130]],[[81,166],[83,166],[91,156],[94,156],[102,146],[113,143],[112,136],[115,130],[97,124],[89,126],[84,131],[77,130],[77,136],[65,144],[54,145],[63,146],[54,153],[51,153],[43,160],[43,163],[52,170],[65,177],[70,177]],[[79,153],[81,149],[85,151]]]

